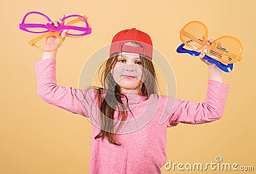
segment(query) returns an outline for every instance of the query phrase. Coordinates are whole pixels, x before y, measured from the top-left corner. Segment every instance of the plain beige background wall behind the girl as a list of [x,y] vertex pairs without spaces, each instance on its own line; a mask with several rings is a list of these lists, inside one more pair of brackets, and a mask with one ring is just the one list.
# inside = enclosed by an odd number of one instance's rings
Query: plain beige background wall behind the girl
[[[253,0],[1,0],[0,4],[0,173],[89,173],[92,125],[83,116],[51,106],[37,95],[34,63],[41,59],[42,52],[28,45],[36,35],[19,30],[22,17],[34,10],[51,19],[59,18],[62,13],[88,16],[92,35],[68,38],[58,52],[58,84],[74,88],[78,87],[86,59],[110,43],[118,31],[135,27],[147,32],[154,47],[170,61],[177,79],[177,97],[203,102],[207,66],[199,58],[175,52],[180,44],[180,28],[191,20],[200,20],[207,25],[210,38],[221,35],[239,38],[243,43],[243,61],[236,63],[229,74],[223,73],[224,82],[230,84],[223,118],[203,125],[180,123],[168,129],[166,155],[168,161],[183,164],[216,162],[215,157],[221,155],[223,162],[254,166],[256,170]],[[164,168],[162,171],[173,173]]]

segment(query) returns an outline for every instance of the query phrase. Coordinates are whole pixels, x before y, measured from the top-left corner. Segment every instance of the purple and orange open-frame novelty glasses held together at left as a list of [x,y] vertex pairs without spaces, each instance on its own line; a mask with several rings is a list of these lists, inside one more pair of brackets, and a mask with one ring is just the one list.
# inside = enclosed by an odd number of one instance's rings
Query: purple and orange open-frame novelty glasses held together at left
[[[37,21],[37,23],[35,23],[35,21]],[[47,15],[40,12],[28,12],[19,24],[19,28],[29,33],[44,33],[29,41],[29,45],[35,46],[42,51],[54,51],[60,48],[63,42],[61,32],[64,29],[68,29],[67,37],[71,38],[79,38],[92,33],[92,28],[90,24],[88,24],[86,16],[68,15],[61,19],[61,21],[60,26],[54,27],[52,24],[49,24],[52,20],[47,17]],[[64,24],[65,22],[67,22],[67,24]],[[49,37],[57,38],[59,44],[52,49],[43,49],[45,40]]]

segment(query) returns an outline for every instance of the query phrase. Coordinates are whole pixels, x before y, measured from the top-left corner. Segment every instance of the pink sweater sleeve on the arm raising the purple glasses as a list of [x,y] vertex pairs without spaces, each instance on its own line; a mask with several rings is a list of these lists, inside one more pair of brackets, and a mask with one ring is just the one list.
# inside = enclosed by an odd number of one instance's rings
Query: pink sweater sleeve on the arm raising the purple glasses
[[[42,59],[35,62],[35,70],[37,92],[40,98],[71,113],[88,117],[88,108],[90,108],[88,104],[92,101],[83,100],[86,91],[56,84],[56,59]],[[81,101],[83,101],[83,108]],[[84,101],[87,101],[87,104]]]

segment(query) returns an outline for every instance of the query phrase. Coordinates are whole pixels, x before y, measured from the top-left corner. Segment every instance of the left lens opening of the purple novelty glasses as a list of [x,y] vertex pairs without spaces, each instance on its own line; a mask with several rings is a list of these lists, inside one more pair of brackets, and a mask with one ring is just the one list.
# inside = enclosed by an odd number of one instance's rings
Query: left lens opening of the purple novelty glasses
[[[47,29],[38,26],[38,24],[46,25],[47,22],[49,21],[44,16],[36,13],[31,13],[26,17],[24,24],[26,24],[26,29],[28,29],[28,31],[42,33],[44,31],[47,31]],[[32,25],[28,26],[28,24]]]

